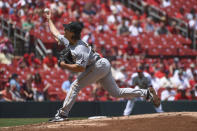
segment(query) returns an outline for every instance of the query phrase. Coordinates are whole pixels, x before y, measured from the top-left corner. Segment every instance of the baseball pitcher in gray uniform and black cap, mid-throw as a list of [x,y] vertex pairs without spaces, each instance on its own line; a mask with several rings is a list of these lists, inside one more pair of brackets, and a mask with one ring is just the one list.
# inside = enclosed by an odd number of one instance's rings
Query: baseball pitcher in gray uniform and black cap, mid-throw
[[149,89],[131,89],[118,88],[111,74],[111,65],[105,58],[101,58],[87,43],[81,40],[82,24],[80,22],[71,22],[63,24],[64,35],[54,26],[51,20],[51,11],[45,12],[49,23],[51,33],[59,44],[63,44],[65,48],[71,52],[74,63],[59,60],[59,66],[74,72],[81,72],[77,79],[71,84],[70,90],[64,100],[63,106],[58,110],[54,118],[50,122],[58,122],[68,120],[68,114],[71,110],[78,92],[87,85],[99,81],[105,90],[114,97],[144,97],[153,99],[155,104],[160,104],[158,97],[153,88]]

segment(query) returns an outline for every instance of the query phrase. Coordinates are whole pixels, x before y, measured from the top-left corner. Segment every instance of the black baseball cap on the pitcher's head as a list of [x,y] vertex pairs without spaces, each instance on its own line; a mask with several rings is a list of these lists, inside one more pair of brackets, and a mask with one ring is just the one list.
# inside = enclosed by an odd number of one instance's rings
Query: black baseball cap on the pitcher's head
[[69,24],[63,24],[64,30],[68,30],[75,34],[80,34],[83,29],[82,22],[71,22]]

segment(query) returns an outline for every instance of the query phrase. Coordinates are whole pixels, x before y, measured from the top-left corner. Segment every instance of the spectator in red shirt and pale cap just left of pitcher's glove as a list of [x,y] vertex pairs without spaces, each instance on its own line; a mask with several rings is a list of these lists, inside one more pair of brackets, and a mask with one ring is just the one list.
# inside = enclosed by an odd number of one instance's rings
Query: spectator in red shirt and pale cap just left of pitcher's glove
[[51,68],[58,68],[57,58],[53,56],[52,50],[47,50],[47,56],[43,60],[43,66],[45,70],[50,70]]

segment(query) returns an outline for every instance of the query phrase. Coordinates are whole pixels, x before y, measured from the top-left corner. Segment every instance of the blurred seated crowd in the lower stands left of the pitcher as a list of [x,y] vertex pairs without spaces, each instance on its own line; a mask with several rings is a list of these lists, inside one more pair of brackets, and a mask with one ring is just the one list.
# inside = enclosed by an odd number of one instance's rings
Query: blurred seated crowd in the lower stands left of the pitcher
[[[1,44],[2,45],[2,44]],[[6,53],[5,53],[6,51]],[[8,49],[3,48],[1,53],[7,54]],[[15,60],[15,61],[14,61]],[[15,63],[13,63],[15,62]],[[24,54],[23,57],[7,59],[0,57],[1,66],[8,65],[12,68],[40,69],[50,71],[57,66],[57,58],[53,56],[52,50],[47,50],[47,56],[41,60],[36,58],[34,53]],[[0,67],[1,67],[0,66]],[[9,70],[7,70],[9,72]],[[6,68],[0,68],[0,98],[1,101],[44,101],[49,100],[47,89],[50,84],[44,82],[39,72],[27,73],[25,80],[19,79],[19,74],[13,73],[8,78],[5,77]]]

